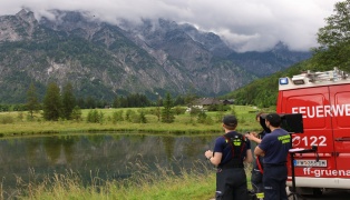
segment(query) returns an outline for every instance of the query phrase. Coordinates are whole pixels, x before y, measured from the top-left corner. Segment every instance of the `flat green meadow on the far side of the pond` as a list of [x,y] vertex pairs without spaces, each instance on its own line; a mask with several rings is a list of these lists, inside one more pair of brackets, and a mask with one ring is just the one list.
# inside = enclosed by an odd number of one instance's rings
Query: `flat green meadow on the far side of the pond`
[[[87,122],[86,118],[90,110],[81,110],[81,121],[72,120],[58,120],[58,121],[45,121],[42,114],[36,113],[33,120],[27,120],[27,112],[0,112],[0,136],[30,136],[30,134],[51,134],[51,133],[74,133],[74,132],[148,132],[148,133],[175,133],[175,134],[191,134],[191,133],[206,133],[206,132],[220,132],[221,119],[226,112],[206,112],[210,120],[204,123],[197,122],[197,117],[191,117],[189,113],[183,113],[175,116],[173,123],[163,123],[158,121],[158,118],[154,114],[149,114],[148,110],[155,108],[123,108],[123,109],[98,109],[98,112],[104,114],[104,120],[98,123]],[[127,120],[113,122],[113,113],[121,111],[124,114],[128,110],[133,110],[136,113],[139,110],[144,110],[146,113],[146,123],[130,122]],[[245,132],[252,130],[260,130],[260,126],[255,121],[255,114],[259,109],[247,106],[235,106],[234,111],[239,119],[237,131]]]

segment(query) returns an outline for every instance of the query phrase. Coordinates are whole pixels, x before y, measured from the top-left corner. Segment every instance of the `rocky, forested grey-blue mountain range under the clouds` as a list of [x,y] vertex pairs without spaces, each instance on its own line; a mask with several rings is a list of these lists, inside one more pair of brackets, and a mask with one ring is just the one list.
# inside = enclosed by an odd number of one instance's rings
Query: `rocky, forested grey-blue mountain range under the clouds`
[[130,93],[217,97],[311,57],[283,42],[236,52],[213,32],[165,19],[117,26],[78,11],[50,13],[0,17],[0,103],[26,102],[31,82],[40,98],[49,82],[106,101]]

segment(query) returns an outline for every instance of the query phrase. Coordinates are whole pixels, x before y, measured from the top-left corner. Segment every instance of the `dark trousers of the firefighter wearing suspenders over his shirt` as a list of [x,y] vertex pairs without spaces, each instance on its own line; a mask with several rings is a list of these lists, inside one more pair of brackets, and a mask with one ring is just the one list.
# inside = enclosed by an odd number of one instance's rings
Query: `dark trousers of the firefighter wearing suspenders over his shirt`
[[247,200],[246,176],[243,168],[217,169],[216,200]]

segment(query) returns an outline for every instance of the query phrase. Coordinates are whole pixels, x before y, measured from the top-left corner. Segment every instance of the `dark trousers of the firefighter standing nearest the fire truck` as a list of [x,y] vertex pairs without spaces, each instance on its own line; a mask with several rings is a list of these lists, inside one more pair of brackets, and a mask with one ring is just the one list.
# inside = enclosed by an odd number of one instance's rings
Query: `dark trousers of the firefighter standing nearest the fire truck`
[[286,166],[264,164],[264,200],[288,200],[285,181],[288,177]]

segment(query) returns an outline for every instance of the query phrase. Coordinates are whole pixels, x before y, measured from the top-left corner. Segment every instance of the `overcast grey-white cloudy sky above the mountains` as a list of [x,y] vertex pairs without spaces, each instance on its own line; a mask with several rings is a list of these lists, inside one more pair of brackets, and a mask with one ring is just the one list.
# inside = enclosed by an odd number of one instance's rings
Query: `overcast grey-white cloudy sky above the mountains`
[[0,14],[29,8],[37,17],[47,10],[89,11],[117,22],[164,18],[188,22],[221,36],[240,51],[266,50],[283,41],[292,50],[317,47],[317,32],[341,0],[1,0]]

